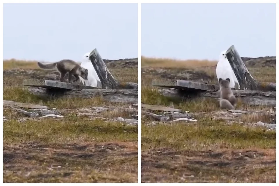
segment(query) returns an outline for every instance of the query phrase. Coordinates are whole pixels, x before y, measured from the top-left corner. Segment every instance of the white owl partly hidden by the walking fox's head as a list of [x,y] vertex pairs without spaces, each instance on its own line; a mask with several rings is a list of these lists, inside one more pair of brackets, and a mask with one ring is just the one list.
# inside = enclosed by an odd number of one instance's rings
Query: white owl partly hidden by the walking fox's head
[[92,62],[89,59],[89,54],[90,52],[84,54],[83,56],[84,59],[83,62],[81,63],[81,67],[86,68],[88,70],[88,80],[86,81],[82,77],[79,77],[79,79],[81,83],[83,83],[83,85],[90,86],[90,87],[101,87],[102,84],[100,78],[96,70],[94,69]]

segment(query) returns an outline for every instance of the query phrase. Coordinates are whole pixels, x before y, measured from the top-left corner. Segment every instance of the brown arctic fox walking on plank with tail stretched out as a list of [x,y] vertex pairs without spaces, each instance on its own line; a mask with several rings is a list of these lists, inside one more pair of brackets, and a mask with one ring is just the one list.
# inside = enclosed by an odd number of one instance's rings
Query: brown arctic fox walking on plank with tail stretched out
[[[60,81],[66,82],[64,76],[69,72],[69,83],[74,83],[78,81],[78,76],[81,76],[83,79],[87,80],[88,70],[81,67],[78,63],[73,60],[64,59],[59,62],[42,64],[38,62],[38,66],[42,69],[56,69],[60,73]],[[74,75],[74,81],[71,80],[72,75]]]

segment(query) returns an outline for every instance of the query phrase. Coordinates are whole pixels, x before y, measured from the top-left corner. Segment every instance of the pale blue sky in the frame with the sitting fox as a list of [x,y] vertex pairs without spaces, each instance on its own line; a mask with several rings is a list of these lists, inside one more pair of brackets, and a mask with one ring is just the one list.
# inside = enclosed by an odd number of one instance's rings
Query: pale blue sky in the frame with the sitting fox
[[241,57],[276,56],[276,4],[142,3],[142,55],[218,60],[234,45]]

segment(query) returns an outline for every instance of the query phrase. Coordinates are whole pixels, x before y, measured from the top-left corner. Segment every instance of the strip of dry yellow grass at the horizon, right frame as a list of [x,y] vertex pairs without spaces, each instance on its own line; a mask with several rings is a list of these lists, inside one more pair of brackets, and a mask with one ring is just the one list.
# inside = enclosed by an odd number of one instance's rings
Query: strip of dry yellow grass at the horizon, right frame
[[218,61],[210,60],[176,60],[169,58],[146,58],[142,56],[142,67],[160,67],[160,68],[197,68],[214,67]]

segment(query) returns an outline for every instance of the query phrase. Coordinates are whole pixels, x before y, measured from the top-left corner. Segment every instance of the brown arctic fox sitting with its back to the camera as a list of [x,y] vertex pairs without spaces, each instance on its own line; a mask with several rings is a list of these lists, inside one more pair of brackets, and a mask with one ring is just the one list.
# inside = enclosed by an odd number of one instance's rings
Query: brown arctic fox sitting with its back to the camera
[[230,88],[230,78],[222,79],[219,78],[221,98],[219,98],[220,107],[222,109],[234,109],[237,99],[232,93]]

